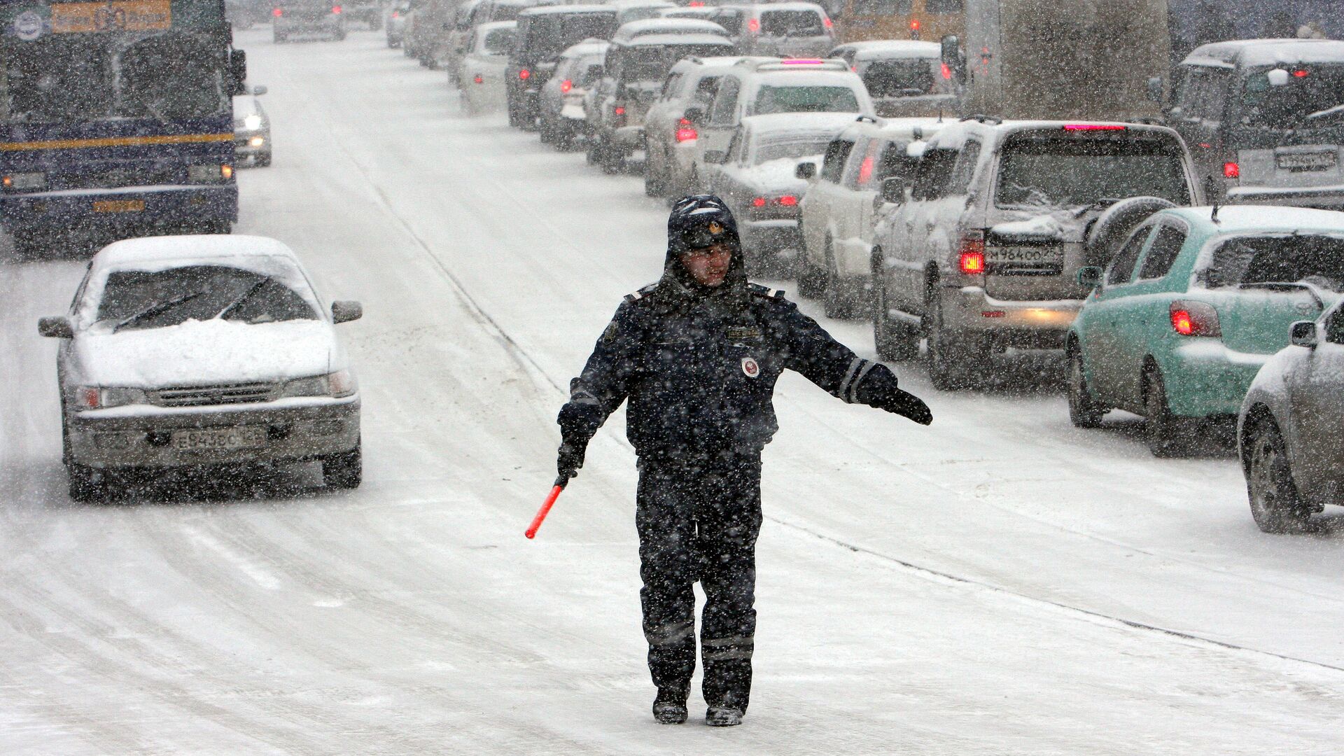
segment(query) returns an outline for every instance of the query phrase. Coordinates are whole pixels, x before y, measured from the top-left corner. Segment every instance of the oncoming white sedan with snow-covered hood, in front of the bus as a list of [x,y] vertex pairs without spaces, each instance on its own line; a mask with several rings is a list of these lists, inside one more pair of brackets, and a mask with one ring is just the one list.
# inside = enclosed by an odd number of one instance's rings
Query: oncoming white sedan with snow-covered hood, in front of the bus
[[116,495],[136,471],[320,460],[328,486],[362,478],[360,397],[325,308],[284,243],[243,235],[148,237],[103,248],[59,338],[70,495]]

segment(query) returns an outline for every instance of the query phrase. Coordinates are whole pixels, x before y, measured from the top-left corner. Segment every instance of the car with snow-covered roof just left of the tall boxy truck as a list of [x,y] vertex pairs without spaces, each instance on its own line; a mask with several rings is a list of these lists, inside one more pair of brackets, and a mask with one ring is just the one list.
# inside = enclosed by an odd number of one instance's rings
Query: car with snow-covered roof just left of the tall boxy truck
[[913,39],[851,42],[827,54],[840,58],[863,78],[872,105],[883,118],[937,117],[957,112],[950,71],[945,75],[942,46]]

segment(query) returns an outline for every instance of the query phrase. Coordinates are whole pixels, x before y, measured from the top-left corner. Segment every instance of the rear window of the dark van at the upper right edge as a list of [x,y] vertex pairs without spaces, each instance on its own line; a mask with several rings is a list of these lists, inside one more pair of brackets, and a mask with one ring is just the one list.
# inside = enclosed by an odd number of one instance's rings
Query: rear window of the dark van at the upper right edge
[[1289,75],[1282,86],[1270,85],[1270,69],[1249,74],[1242,85],[1241,113],[1234,120],[1271,129],[1344,122],[1344,62],[1285,70]]

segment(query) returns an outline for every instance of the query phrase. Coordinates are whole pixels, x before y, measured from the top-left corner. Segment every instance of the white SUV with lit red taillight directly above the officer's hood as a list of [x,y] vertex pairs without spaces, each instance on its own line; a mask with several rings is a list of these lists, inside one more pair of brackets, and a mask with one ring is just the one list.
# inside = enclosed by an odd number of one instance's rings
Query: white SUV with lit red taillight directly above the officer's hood
[[644,194],[689,194],[685,178],[695,163],[699,132],[685,112],[692,106],[708,110],[719,79],[741,59],[738,55],[688,58],[672,66],[659,98],[644,114]]

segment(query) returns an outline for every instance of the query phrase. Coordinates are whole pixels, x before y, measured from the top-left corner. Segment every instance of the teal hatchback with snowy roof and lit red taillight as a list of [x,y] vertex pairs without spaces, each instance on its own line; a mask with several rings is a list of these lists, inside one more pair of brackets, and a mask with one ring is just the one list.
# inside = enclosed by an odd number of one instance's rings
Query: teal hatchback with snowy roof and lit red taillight
[[1344,213],[1160,210],[1078,280],[1094,288],[1066,336],[1070,420],[1129,410],[1154,455],[1179,455],[1200,420],[1236,416],[1293,322],[1344,297]]

